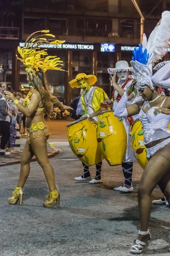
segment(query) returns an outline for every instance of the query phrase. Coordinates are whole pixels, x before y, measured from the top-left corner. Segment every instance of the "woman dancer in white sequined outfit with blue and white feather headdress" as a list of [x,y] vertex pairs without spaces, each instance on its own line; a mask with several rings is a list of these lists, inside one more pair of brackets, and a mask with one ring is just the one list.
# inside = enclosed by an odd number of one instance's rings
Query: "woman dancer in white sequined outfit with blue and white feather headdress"
[[[138,187],[138,204],[140,215],[140,230],[136,244],[130,249],[131,253],[142,253],[146,244],[150,241],[148,230],[151,212],[151,193],[156,185],[170,204],[170,97],[157,93],[152,82],[152,65],[164,55],[164,46],[169,45],[170,12],[162,14],[161,22],[156,26],[143,49],[135,49],[131,65],[135,70],[130,90],[124,93],[114,112],[115,116],[133,116],[139,113],[139,119],[144,129],[144,144],[147,148],[148,164],[144,169]],[[154,32],[156,30],[156,33]],[[162,36],[162,33],[165,36]],[[161,38],[153,38],[153,35]],[[157,40],[154,40],[157,39]],[[155,42],[151,46],[152,42]],[[159,54],[158,54],[159,53]],[[142,56],[141,56],[142,55]],[[138,60],[138,61],[137,61]],[[139,63],[141,61],[142,63]],[[166,67],[166,66],[165,66]],[[143,100],[127,106],[127,99],[135,88],[139,90]]]

